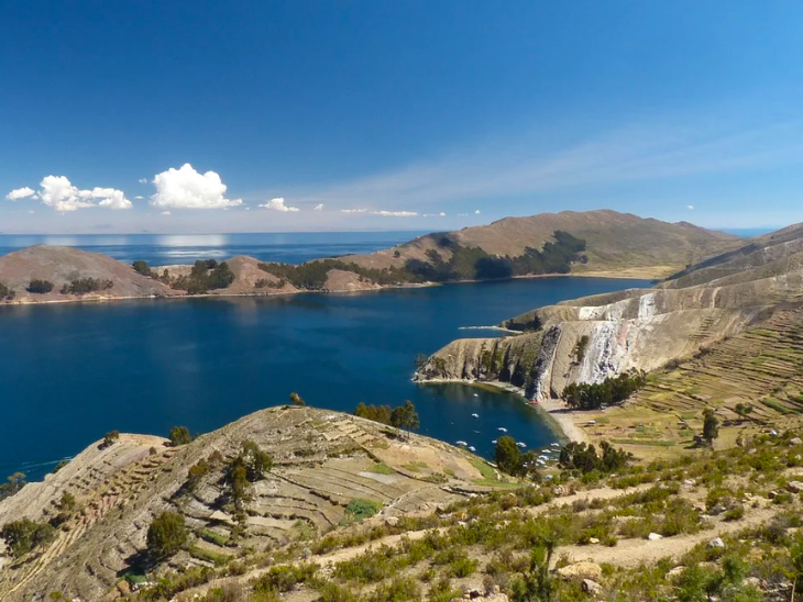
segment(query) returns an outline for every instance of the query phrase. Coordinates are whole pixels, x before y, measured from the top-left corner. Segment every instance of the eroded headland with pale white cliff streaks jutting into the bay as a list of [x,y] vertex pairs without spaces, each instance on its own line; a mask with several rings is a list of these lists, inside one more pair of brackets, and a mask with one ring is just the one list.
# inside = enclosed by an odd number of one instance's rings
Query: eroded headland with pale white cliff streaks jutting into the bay
[[631,368],[656,370],[760,323],[779,306],[803,302],[799,248],[803,238],[758,250],[750,244],[653,289],[532,310],[503,325],[537,332],[455,341],[436,353],[418,378],[502,381],[547,399],[571,382],[600,382]]

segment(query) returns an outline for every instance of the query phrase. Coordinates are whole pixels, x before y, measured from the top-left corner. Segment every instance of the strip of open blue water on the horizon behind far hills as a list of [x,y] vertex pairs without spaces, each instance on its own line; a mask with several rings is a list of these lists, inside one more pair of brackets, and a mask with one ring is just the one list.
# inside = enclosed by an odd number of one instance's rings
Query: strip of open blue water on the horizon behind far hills
[[317,257],[373,253],[405,243],[424,232],[292,232],[268,234],[0,234],[0,256],[32,245],[63,245],[109,255],[130,264],[191,264],[250,255],[263,261],[300,264]]

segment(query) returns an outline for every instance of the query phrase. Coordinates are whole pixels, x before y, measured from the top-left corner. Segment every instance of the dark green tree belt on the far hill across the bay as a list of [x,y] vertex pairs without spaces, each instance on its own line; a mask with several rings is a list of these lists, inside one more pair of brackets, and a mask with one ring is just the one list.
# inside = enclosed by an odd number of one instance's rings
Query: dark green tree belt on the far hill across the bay
[[[557,231],[556,242],[541,250],[528,247],[518,257],[488,255],[479,247],[464,247],[448,235],[437,238],[440,249],[429,249],[427,260],[410,259],[404,267],[389,269],[364,268],[340,259],[320,259],[298,266],[289,264],[260,264],[260,268],[294,287],[320,290],[332,269],[352,271],[360,278],[377,285],[405,282],[449,282],[455,280],[491,280],[537,274],[569,274],[573,261],[585,250],[585,242],[566,232]],[[449,259],[443,256],[449,255]]]

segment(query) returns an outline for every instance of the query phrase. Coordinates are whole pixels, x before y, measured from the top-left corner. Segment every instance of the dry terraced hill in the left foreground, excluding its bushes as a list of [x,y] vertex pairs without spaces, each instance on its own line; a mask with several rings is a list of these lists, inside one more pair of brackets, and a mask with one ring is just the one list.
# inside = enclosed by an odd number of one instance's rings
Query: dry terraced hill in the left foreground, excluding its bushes
[[[251,487],[244,531],[235,535],[241,527],[235,528],[226,467],[245,441],[267,452],[274,468]],[[190,489],[188,470],[200,460],[210,468]],[[170,566],[212,566],[210,558],[324,533],[341,523],[352,500],[378,502],[377,520],[431,512],[487,489],[474,484],[483,478],[476,461],[435,439],[399,437],[378,423],[295,406],[256,412],[176,448],[135,435],[121,435],[106,448],[98,442],[44,482],[0,502],[0,524],[47,521],[65,492],[82,509],[70,514],[44,554],[2,567],[0,600],[28,601],[52,591],[105,599],[125,571],[142,573],[147,527],[167,510],[183,514],[193,534]]]

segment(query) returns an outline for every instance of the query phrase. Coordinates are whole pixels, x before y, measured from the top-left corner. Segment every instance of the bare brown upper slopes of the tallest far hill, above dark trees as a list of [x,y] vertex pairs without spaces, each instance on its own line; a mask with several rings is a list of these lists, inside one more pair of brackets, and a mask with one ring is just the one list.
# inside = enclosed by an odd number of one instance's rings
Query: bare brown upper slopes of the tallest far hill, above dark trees
[[[397,247],[371,255],[344,257],[370,268],[402,267],[409,259],[428,261],[427,252],[450,254],[439,241],[448,237],[464,247],[480,247],[491,255],[515,257],[527,247],[542,248],[564,231],[586,242],[587,263],[572,271],[609,272],[663,278],[705,257],[739,246],[740,239],[723,232],[704,230],[686,222],[668,223],[610,210],[563,211],[531,218],[505,218],[492,224],[459,232],[420,236]],[[396,254],[398,253],[398,257]]]

